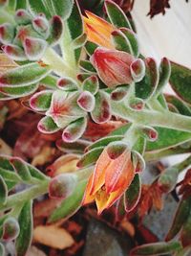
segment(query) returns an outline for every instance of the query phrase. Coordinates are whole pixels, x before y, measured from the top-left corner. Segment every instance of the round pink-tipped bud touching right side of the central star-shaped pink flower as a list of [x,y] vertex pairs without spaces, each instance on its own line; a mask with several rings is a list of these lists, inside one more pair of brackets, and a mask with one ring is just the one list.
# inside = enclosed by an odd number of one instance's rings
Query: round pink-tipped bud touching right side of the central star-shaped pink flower
[[92,112],[95,108],[95,97],[89,91],[83,91],[78,99],[77,105],[87,112]]

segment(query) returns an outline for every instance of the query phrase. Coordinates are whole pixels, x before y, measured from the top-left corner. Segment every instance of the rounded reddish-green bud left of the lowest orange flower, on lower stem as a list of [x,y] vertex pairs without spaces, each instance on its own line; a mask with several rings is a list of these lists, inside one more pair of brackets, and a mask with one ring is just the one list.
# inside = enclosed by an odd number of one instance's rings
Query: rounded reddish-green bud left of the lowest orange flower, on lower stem
[[68,198],[75,189],[77,176],[74,174],[62,174],[55,176],[49,185],[50,198]]

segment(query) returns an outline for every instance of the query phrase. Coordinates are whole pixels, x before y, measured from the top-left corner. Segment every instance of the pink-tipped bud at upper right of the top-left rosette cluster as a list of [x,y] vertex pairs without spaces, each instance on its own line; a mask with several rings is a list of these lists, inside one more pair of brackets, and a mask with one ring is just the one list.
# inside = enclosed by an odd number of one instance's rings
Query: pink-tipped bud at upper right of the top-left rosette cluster
[[50,25],[46,17],[37,16],[32,20],[34,30],[47,38],[50,35]]

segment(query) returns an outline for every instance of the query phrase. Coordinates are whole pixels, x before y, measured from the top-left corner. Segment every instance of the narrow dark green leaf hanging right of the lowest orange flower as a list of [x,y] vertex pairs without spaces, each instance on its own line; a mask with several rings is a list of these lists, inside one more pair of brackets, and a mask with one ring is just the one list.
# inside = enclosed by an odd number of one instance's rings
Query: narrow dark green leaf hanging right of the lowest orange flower
[[125,210],[132,211],[138,204],[141,193],[141,181],[138,174],[135,175],[134,180],[127,189],[124,195]]

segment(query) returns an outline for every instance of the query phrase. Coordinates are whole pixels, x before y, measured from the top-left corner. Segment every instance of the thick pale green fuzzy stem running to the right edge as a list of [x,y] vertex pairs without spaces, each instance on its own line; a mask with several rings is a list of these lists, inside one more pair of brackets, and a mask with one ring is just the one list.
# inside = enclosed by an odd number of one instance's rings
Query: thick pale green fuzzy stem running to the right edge
[[154,127],[174,128],[182,131],[191,132],[191,117],[182,116],[170,111],[159,112],[155,110],[137,111],[129,108],[124,103],[118,104],[111,101],[112,111],[114,115],[128,120],[137,125],[148,125]]

